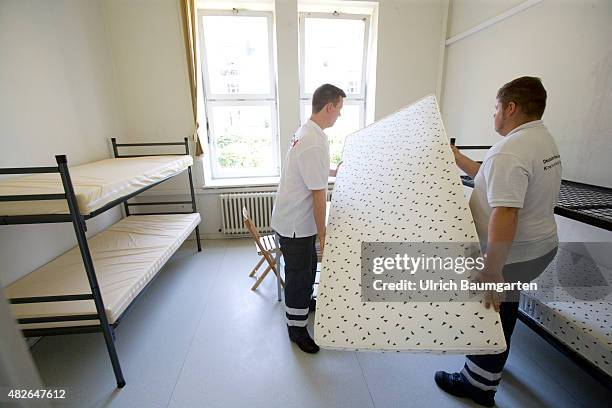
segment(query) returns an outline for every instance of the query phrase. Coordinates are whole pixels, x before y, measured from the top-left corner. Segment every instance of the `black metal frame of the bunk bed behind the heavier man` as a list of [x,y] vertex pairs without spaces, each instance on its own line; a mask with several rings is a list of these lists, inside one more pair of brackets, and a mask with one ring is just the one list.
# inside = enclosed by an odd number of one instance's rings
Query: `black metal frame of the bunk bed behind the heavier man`
[[[451,139],[452,145],[455,144],[454,142],[454,138]],[[455,147],[459,150],[488,150],[491,148],[491,146],[477,145]],[[465,186],[472,188],[474,187],[474,180],[470,176],[461,176],[461,181]],[[576,181],[562,180],[561,191],[559,192],[560,202],[558,202],[555,206],[555,214],[588,225],[592,225],[594,227],[612,231],[612,216],[607,218],[597,216],[591,213],[593,210],[607,210],[610,214],[612,214],[612,202],[605,202],[605,200],[601,200],[601,197],[594,197],[595,199],[592,199],[591,202],[581,203],[579,197],[581,192],[586,192],[589,196],[597,196],[600,194],[612,196],[611,188],[593,186],[590,184],[578,183]],[[569,348],[562,341],[557,339],[554,335],[546,331],[546,329],[540,326],[540,324],[535,319],[527,315],[522,310],[519,310],[518,317],[527,327],[536,332],[540,337],[542,337],[542,339],[544,339],[547,343],[556,348],[562,354],[567,356],[591,377],[595,378],[605,387],[612,389],[612,377],[610,377],[601,368],[597,367],[587,358],[583,357],[576,351]]]

